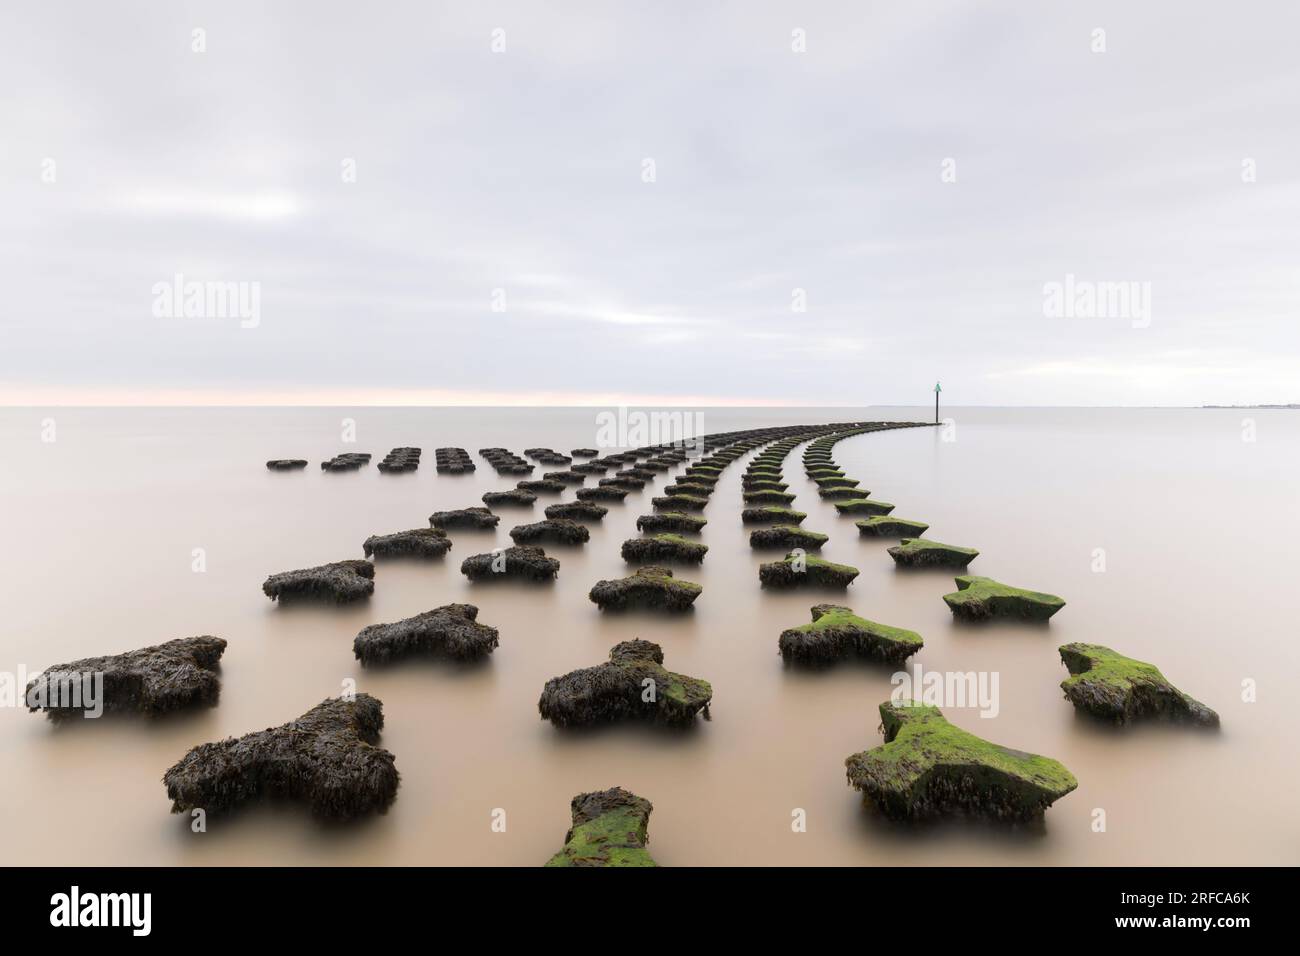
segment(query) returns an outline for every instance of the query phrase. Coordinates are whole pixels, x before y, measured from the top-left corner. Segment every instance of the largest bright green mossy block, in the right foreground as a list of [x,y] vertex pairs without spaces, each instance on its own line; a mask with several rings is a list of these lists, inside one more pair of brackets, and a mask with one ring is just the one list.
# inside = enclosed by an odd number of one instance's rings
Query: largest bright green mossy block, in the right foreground
[[892,819],[949,816],[1043,818],[1079,786],[1050,757],[1013,750],[954,727],[939,708],[880,705],[885,743],[845,761],[849,783]]

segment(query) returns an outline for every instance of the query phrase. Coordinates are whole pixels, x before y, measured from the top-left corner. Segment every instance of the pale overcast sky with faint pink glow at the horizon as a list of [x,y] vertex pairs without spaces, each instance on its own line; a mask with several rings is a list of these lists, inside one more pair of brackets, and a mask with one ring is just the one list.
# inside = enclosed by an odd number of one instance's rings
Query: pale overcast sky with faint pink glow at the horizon
[[1300,402],[1297,31],[6,0],[0,405]]

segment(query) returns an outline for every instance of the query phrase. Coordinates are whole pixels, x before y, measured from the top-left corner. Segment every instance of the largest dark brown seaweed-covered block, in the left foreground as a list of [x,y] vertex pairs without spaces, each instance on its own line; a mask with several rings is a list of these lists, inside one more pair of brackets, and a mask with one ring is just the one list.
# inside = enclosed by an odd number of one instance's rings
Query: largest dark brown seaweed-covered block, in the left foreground
[[259,797],[295,800],[324,819],[387,810],[398,792],[378,745],[384,704],[332,697],[280,727],[199,744],[162,775],[173,813],[221,813]]

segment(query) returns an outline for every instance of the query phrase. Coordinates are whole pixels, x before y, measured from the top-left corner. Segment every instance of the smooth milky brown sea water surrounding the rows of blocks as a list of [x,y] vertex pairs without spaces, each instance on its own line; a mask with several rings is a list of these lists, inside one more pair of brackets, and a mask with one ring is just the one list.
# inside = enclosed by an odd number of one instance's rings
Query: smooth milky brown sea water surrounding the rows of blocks
[[[1291,602],[1300,540],[1295,480],[1300,412],[1230,410],[954,410],[940,429],[849,438],[836,458],[896,514],[940,541],[976,546],[971,571],[1050,591],[1069,606],[1046,628],[954,626],[940,596],[950,575],[900,574],[889,542],[863,540],[803,479],[786,480],[831,535],[824,555],[862,575],[845,602],[920,631],[927,670],[997,671],[1000,713],[948,708],[957,724],[1061,760],[1079,790],[1041,831],[889,826],[862,806],[844,758],[880,743],[876,706],[889,667],[805,675],[776,653],[807,619],[810,594],[760,592],[738,520],[742,464],[718,484],[705,591],[685,618],[602,617],[586,592],[627,567],[619,545],[660,477],[612,505],[550,587],[469,585],[468,554],[510,544],[532,510],[502,511],[495,533],[452,532],[446,561],[381,563],[374,597],[347,607],[281,609],[266,574],[360,557],[372,533],[424,527],[430,511],[478,503],[512,480],[474,454],[502,445],[568,450],[594,441],[592,410],[220,408],[0,411],[0,670],[117,653],[213,633],[230,645],[221,702],[146,722],[55,727],[0,709],[0,857],[5,864],[519,864],[542,862],[568,827],[569,799],[623,786],[649,797],[651,851],[668,865],[710,864],[1295,864],[1300,861]],[[706,410],[706,431],[861,418],[923,419],[924,410]],[[53,442],[43,420],[53,419]],[[356,420],[358,441],[339,440]],[[1256,441],[1243,441],[1243,419]],[[48,429],[47,429],[48,437]],[[376,460],[420,445],[413,475],[373,464],[326,475],[346,450]],[[473,476],[436,475],[433,449],[467,447]],[[270,473],[268,458],[304,457]],[[545,468],[538,468],[538,475]],[[563,496],[566,499],[572,494]],[[191,570],[192,549],[207,571]],[[1104,572],[1095,549],[1105,550]],[[468,601],[500,630],[486,666],[411,663],[363,671],[363,626]],[[712,721],[688,735],[614,727],[563,734],[537,715],[547,678],[606,658],[630,637],[663,645],[670,669],[712,682]],[[1216,708],[1223,728],[1113,731],[1075,717],[1056,646],[1109,644],[1152,661]],[[384,701],[382,743],[402,787],[382,817],[321,829],[295,808],[256,808],[194,834],[168,813],[162,771],[194,744],[280,724],[347,678]],[[1242,682],[1257,682],[1257,701]],[[506,832],[491,829],[506,810]],[[807,816],[793,832],[792,810]],[[1093,831],[1093,810],[1106,813]]]

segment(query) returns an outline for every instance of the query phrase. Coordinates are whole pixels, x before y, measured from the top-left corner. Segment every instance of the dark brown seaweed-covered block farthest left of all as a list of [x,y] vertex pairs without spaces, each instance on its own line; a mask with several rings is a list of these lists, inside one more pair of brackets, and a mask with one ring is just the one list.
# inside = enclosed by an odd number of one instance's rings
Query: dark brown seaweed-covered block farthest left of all
[[27,710],[44,710],[51,719],[62,719],[99,713],[160,717],[212,706],[221,693],[217,663],[225,649],[221,637],[203,635],[125,654],[56,663],[27,683]]

